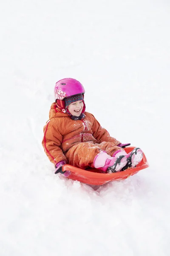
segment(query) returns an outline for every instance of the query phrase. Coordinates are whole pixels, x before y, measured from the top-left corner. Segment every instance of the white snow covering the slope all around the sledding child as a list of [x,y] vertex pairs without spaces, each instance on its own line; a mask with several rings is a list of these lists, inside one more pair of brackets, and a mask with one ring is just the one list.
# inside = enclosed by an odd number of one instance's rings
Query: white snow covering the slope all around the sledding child
[[[6,0],[0,38],[0,256],[169,256],[169,1]],[[65,77],[149,168],[97,190],[54,175],[41,141]]]

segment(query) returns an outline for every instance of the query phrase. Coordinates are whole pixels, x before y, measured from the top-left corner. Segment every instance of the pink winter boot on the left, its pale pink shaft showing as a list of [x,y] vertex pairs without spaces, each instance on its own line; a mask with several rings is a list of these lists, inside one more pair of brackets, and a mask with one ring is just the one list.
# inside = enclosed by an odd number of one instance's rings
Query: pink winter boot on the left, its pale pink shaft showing
[[114,156],[109,156],[105,151],[100,151],[94,158],[94,167],[103,172],[119,172],[127,164],[127,157],[122,154],[121,150],[114,153]]

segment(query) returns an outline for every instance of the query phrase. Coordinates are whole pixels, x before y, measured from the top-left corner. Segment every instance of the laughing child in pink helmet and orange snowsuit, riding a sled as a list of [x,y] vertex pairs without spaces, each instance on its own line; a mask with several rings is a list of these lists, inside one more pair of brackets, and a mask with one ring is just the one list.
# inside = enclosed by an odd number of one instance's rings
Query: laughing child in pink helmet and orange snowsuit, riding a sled
[[134,148],[126,154],[123,148],[130,144],[111,137],[91,113],[85,112],[84,93],[76,79],[65,78],[55,85],[55,102],[42,140],[55,173],[63,174],[62,166],[66,163],[81,169],[90,166],[105,173],[134,168],[142,160],[142,150]]

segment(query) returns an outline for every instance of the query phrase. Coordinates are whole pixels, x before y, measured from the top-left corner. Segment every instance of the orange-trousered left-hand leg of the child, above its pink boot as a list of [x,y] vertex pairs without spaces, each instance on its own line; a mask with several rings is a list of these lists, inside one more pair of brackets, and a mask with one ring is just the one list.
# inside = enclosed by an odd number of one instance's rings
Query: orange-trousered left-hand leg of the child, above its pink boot
[[97,145],[85,142],[74,145],[68,150],[65,156],[68,159],[68,164],[86,169],[93,165],[94,158],[100,151],[101,149]]

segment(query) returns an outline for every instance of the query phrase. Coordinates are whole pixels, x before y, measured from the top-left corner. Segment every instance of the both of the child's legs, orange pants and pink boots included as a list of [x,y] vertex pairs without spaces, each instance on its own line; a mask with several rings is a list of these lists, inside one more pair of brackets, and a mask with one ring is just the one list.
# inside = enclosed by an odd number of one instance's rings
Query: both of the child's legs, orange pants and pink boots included
[[140,148],[135,148],[126,154],[124,149],[113,143],[93,144],[85,142],[74,145],[65,156],[72,166],[81,169],[90,166],[111,173],[125,170],[128,167],[135,167],[142,160],[143,154]]

